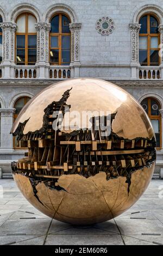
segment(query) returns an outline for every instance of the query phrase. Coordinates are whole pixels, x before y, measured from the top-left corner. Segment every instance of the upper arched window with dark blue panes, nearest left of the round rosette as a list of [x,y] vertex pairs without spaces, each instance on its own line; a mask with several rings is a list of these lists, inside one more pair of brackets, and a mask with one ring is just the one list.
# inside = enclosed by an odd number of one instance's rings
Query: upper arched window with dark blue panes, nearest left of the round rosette
[[51,20],[49,34],[51,65],[69,65],[71,62],[70,19],[64,14],[57,14]]

